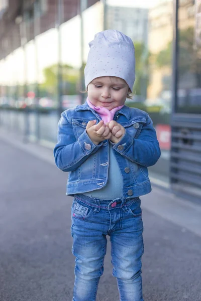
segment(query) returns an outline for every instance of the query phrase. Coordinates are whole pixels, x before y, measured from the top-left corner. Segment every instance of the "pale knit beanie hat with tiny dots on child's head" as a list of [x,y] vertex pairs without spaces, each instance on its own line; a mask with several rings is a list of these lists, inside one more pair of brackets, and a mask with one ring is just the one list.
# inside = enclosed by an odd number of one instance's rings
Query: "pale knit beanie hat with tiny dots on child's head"
[[106,30],[95,35],[89,43],[84,69],[85,86],[96,77],[123,78],[131,91],[135,82],[135,48],[131,38],[117,30]]

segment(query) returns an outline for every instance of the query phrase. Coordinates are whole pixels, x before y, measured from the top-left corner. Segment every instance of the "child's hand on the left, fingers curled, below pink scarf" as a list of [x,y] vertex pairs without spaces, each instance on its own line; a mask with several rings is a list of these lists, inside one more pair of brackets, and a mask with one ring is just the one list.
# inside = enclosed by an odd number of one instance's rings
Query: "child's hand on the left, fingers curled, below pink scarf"
[[96,120],[88,121],[86,132],[93,143],[97,145],[106,139],[110,139],[112,133],[110,132],[109,127],[104,124],[103,120],[99,121],[97,124],[95,123]]

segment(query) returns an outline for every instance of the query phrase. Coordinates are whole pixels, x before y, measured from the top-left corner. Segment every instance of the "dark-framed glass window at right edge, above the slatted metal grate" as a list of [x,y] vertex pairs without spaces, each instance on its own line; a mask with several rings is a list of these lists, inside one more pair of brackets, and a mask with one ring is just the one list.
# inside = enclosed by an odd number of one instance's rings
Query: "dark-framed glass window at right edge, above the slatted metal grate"
[[201,1],[179,1],[176,112],[201,113]]

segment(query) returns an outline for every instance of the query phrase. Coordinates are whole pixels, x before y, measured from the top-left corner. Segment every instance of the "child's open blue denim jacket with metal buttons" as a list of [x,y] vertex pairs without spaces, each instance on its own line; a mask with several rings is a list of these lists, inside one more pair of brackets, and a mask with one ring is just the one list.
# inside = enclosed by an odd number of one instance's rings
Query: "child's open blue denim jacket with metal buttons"
[[[101,189],[107,184],[111,141],[98,145],[91,141],[86,124],[94,119],[101,120],[86,102],[61,114],[54,157],[57,167],[69,172],[67,195]],[[151,191],[147,167],[160,157],[153,123],[146,112],[126,105],[115,113],[114,120],[126,129],[122,139],[112,143],[123,179],[123,198],[145,195]]]

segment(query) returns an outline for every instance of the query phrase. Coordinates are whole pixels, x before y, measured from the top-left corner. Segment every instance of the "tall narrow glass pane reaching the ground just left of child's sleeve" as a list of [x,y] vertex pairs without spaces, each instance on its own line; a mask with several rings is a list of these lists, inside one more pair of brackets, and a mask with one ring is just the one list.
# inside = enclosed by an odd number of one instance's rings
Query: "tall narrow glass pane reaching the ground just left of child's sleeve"
[[[37,114],[30,115],[30,128],[35,129],[40,141],[55,141],[59,91],[59,31],[57,2],[38,1],[35,6],[35,61]],[[30,66],[31,68],[31,66]],[[30,89],[32,87],[30,86]],[[31,119],[32,117],[32,119]]]

